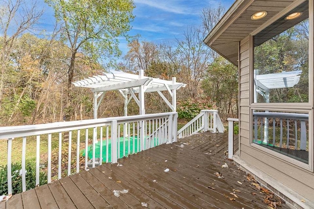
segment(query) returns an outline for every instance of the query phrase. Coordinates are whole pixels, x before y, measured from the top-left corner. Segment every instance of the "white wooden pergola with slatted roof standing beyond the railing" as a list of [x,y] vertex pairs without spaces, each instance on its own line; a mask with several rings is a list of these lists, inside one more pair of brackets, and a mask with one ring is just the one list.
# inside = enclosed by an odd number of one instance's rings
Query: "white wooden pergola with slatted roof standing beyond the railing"
[[[186,84],[162,80],[144,76],[144,71],[139,70],[139,74],[131,74],[122,71],[110,70],[103,75],[96,75],[73,82],[76,87],[89,88],[94,93],[94,118],[97,118],[97,110],[104,99],[106,91],[118,90],[124,97],[124,115],[127,116],[128,104],[133,98],[139,107],[139,114],[145,114],[144,93],[157,92],[173,112],[176,112],[177,93],[176,91]],[[167,91],[171,97],[170,102],[162,91]],[[138,93],[138,98],[135,93]]]

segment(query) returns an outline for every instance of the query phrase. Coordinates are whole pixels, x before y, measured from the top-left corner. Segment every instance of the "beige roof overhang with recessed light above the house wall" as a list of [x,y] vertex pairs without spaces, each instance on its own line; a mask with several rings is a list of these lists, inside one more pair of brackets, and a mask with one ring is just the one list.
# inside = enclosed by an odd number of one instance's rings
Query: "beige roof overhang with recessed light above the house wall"
[[[238,66],[239,42],[296,1],[270,0],[265,3],[265,0],[235,0],[204,43]],[[266,11],[266,17],[251,20],[251,16],[259,11]]]

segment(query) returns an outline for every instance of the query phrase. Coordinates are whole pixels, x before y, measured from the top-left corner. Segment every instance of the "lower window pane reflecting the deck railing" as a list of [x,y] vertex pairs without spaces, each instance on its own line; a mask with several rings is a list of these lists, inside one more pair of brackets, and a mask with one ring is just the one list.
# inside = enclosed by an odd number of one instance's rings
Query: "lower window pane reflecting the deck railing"
[[309,164],[309,114],[254,110],[253,143]]

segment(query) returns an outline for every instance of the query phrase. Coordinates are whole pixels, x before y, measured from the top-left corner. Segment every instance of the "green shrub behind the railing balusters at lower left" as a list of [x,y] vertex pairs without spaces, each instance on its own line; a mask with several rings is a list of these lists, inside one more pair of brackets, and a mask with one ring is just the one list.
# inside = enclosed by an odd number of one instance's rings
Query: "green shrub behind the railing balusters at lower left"
[[[12,163],[12,194],[22,192],[22,165],[21,163]],[[0,195],[8,194],[7,165],[0,166]],[[47,184],[47,174],[39,173],[39,184]],[[26,162],[26,190],[36,186],[36,165],[34,162]]]

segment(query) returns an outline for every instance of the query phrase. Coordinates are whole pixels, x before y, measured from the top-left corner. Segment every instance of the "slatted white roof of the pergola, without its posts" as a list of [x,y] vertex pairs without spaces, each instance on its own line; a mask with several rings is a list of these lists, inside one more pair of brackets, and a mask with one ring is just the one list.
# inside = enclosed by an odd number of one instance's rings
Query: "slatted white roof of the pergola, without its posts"
[[159,78],[152,78],[131,74],[122,71],[110,70],[103,75],[96,75],[88,77],[72,84],[76,87],[90,88],[92,92],[105,92],[112,90],[128,91],[128,88],[132,89],[133,93],[139,92],[140,86],[145,86],[145,92],[157,92],[178,90],[181,87],[185,87],[186,84],[163,80]]

